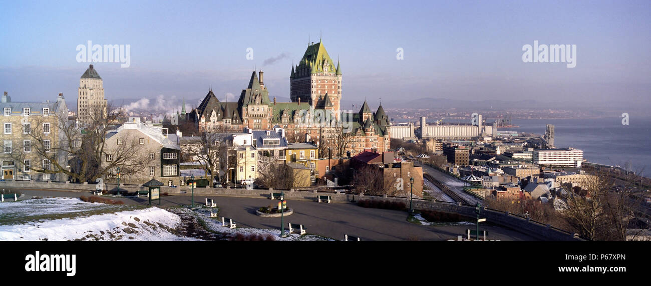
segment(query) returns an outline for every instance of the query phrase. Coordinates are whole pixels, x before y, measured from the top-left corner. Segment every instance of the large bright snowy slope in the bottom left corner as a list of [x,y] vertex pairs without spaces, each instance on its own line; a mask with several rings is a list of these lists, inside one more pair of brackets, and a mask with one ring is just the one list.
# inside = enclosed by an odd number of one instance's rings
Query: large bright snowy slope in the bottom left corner
[[0,240],[195,240],[174,235],[179,216],[157,207],[74,198],[0,204]]

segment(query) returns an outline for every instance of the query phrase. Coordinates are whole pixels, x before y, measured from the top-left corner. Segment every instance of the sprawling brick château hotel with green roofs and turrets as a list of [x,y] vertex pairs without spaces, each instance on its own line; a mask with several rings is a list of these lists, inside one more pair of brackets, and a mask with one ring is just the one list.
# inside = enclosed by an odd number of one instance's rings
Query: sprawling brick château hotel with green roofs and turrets
[[373,113],[365,101],[359,112],[343,110],[341,98],[339,61],[335,66],[324,44],[318,42],[307,47],[298,65],[292,65],[292,102],[277,102],[275,97],[271,100],[264,85],[264,72],[253,71],[237,102],[220,102],[211,89],[201,104],[187,114],[184,104],[180,119],[197,124],[199,132],[271,130],[279,126],[286,130],[290,143],[309,137],[318,145],[341,132],[352,132],[346,147],[351,155],[364,149],[388,150],[389,119],[382,106]]

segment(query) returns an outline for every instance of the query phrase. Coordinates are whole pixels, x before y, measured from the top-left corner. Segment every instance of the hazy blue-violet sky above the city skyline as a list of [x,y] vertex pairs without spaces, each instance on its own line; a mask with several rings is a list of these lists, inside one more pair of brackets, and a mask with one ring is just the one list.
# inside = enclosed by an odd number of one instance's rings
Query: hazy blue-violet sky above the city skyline
[[[236,100],[253,68],[289,97],[292,62],[322,40],[344,100],[592,100],[651,106],[651,1],[1,1],[0,89],[76,100],[77,46],[130,45],[94,63],[105,97]],[[576,66],[523,46],[576,45]],[[247,49],[253,50],[253,59]],[[397,59],[398,48],[402,59]],[[249,50],[250,51],[250,50]]]

